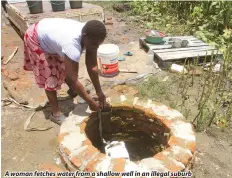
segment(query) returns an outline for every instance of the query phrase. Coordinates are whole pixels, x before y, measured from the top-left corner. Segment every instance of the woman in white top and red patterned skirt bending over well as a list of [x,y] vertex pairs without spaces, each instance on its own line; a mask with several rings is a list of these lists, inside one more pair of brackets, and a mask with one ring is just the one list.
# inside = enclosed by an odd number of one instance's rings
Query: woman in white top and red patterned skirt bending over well
[[44,88],[52,108],[50,119],[61,124],[65,116],[57,102],[57,90],[66,82],[70,94],[77,93],[92,111],[99,109],[78,81],[79,60],[86,49],[86,67],[98,100],[105,104],[97,72],[97,49],[106,37],[104,24],[97,20],[80,23],[71,19],[47,18],[33,24],[24,36],[24,69],[33,71],[39,88]]

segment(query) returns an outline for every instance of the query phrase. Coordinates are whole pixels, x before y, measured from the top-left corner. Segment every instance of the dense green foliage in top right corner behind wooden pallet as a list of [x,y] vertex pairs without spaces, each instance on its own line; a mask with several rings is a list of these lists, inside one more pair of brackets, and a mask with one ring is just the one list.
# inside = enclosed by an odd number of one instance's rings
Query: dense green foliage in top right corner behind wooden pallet
[[232,2],[229,1],[133,1],[130,14],[142,28],[166,33],[195,34],[226,51],[232,41]]

